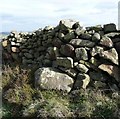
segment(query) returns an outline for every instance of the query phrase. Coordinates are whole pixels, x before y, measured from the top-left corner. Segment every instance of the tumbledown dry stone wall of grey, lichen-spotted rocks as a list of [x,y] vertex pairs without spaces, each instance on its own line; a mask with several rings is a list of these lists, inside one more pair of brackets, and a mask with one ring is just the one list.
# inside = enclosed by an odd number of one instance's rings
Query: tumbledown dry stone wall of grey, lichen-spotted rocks
[[84,28],[79,22],[61,20],[56,27],[32,33],[11,32],[2,46],[3,62],[42,67],[35,72],[41,88],[69,92],[91,84],[120,89],[120,31],[113,23]]

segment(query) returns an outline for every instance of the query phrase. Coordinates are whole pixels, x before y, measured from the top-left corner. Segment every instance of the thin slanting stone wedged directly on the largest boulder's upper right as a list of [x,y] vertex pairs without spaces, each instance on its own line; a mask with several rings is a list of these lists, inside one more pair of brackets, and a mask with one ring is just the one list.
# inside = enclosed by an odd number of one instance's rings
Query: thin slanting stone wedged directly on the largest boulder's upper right
[[58,67],[58,68],[63,72],[67,73],[70,77],[75,78],[77,75],[77,71],[73,68],[63,68],[63,67]]

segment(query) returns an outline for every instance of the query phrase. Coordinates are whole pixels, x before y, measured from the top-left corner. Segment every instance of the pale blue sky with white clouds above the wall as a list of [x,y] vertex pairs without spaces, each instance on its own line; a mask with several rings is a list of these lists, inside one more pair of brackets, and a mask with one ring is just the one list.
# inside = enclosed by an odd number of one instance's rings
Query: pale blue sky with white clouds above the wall
[[0,0],[2,31],[34,31],[57,26],[62,19],[82,26],[118,25],[120,0]]

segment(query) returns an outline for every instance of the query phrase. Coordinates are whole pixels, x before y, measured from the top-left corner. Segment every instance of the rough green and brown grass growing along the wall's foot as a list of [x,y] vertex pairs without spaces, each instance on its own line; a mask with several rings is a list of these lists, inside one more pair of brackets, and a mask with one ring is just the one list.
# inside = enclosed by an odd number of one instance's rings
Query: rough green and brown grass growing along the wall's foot
[[34,69],[3,66],[2,115],[8,117],[120,119],[119,92],[106,94],[99,89],[36,90]]

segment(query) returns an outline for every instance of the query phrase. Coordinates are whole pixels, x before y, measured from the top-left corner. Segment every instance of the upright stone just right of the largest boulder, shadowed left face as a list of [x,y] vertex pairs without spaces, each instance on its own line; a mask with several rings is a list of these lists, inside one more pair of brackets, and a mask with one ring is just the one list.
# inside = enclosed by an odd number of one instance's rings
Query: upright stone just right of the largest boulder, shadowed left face
[[74,88],[75,89],[80,89],[80,88],[86,89],[89,82],[90,82],[89,75],[84,74],[84,73],[83,74],[79,73],[75,81]]

